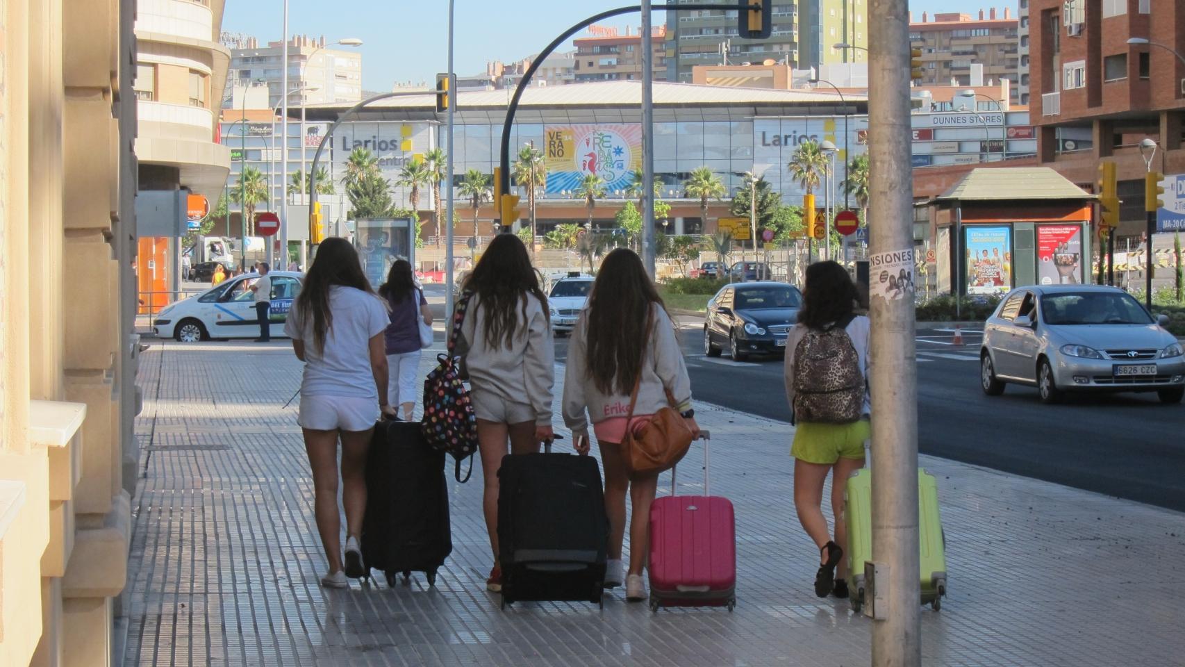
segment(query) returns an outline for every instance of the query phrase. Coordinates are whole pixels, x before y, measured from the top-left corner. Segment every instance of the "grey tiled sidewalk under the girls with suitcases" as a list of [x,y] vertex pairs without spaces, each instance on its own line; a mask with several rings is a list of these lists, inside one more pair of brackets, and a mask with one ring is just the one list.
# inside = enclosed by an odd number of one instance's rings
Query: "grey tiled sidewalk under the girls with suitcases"
[[[697,406],[713,434],[712,492],[736,504],[735,613],[652,615],[620,589],[603,611],[500,611],[483,585],[480,474],[450,485],[455,546],[435,589],[414,575],[393,590],[324,590],[296,402],[281,410],[300,372],[287,344],[156,341],[142,359],[129,667],[869,663],[871,621],[813,595],[816,552],[790,504],[786,424]],[[702,485],[692,473],[700,456],[693,448],[679,475],[684,493]],[[1185,517],[937,458],[923,464],[940,482],[950,571],[942,611],[922,614],[927,665],[1185,663]]]

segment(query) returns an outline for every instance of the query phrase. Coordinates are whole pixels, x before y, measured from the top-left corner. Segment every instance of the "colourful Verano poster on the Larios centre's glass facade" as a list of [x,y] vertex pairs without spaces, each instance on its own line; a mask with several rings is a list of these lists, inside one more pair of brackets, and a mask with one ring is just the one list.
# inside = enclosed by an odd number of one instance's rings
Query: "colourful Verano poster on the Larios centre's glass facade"
[[574,191],[589,174],[608,192],[624,190],[642,168],[640,124],[547,126],[544,128],[547,194]]

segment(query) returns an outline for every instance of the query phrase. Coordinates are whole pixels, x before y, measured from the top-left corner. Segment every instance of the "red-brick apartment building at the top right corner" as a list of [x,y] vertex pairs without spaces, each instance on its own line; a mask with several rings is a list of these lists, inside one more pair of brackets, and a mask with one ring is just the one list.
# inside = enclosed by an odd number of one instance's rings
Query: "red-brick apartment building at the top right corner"
[[[1179,0],[1030,0],[1029,5],[1038,158],[1091,190],[1098,162],[1114,161],[1122,200],[1116,236],[1139,237],[1145,231],[1145,159],[1151,156],[1155,171],[1185,173],[1185,5]],[[1154,154],[1141,154],[1145,139],[1155,142]]]

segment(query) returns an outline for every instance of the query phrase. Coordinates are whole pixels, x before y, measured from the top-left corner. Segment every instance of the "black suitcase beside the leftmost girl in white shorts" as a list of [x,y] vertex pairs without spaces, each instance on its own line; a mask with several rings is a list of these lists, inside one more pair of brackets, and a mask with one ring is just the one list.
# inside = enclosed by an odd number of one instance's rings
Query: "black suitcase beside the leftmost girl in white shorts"
[[366,458],[366,517],[363,562],[382,570],[386,583],[396,572],[404,583],[412,570],[428,584],[453,552],[448,518],[444,453],[428,447],[418,422],[384,419],[374,425]]

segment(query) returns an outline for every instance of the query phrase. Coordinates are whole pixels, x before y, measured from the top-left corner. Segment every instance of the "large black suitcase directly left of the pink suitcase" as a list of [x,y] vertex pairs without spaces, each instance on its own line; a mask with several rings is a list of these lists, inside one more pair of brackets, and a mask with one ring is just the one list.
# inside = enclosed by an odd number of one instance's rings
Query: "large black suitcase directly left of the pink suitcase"
[[518,601],[603,603],[609,519],[591,456],[510,454],[498,470],[502,608]]

